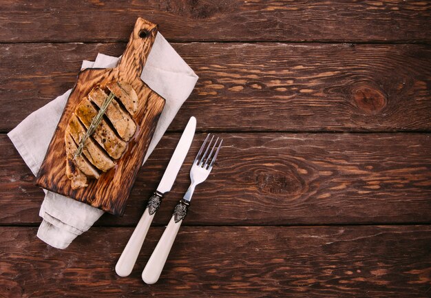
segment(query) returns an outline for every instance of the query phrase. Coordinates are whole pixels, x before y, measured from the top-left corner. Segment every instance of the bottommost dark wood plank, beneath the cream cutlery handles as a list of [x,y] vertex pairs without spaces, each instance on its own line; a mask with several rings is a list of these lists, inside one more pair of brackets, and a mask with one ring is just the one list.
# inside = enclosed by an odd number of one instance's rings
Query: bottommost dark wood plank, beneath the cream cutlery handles
[[[158,284],[116,260],[132,228],[92,228],[65,251],[36,228],[0,228],[3,297],[429,297],[430,226],[183,227]],[[109,237],[107,237],[109,235]],[[85,252],[85,253],[84,253]]]

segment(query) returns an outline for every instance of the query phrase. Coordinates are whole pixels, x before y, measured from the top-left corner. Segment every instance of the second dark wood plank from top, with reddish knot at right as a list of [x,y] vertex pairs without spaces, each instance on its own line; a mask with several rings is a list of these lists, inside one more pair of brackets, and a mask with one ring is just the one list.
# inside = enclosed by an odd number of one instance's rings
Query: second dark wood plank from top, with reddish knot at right
[[[0,45],[0,131],[73,87],[83,59],[119,55],[124,46]],[[431,47],[425,45],[174,47],[200,80],[171,131],[190,116],[198,129],[213,131],[431,130]]]

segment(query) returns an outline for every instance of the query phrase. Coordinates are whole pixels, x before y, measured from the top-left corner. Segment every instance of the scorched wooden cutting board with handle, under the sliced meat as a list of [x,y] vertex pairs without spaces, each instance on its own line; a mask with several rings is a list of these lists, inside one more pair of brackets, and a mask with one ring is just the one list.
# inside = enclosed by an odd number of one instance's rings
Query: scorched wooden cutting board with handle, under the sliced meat
[[[36,177],[37,186],[85,202],[114,215],[123,215],[136,174],[143,163],[158,118],[165,106],[165,99],[140,79],[156,34],[157,25],[139,18],[117,67],[86,69],[79,72],[76,85],[67,100],[45,160]],[[74,109],[90,90],[97,84],[103,85],[109,81],[125,81],[135,89],[139,100],[138,109],[133,116],[137,126],[136,133],[113,169],[102,173],[98,180],[89,180],[88,187],[72,189],[71,182],[65,174],[65,129]]]

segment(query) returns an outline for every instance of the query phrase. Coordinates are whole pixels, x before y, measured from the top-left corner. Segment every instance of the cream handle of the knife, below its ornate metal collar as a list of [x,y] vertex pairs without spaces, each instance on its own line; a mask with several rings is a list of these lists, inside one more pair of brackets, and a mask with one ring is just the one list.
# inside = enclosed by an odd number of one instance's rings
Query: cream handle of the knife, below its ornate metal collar
[[120,259],[118,259],[115,266],[115,272],[120,275],[120,277],[126,277],[132,273],[133,266],[136,263],[136,259],[138,259],[140,248],[144,243],[145,236],[147,235],[149,226],[153,221],[154,214],[156,213],[149,215],[147,208],[142,217],[140,217],[138,225],[136,226],[135,231],[133,231],[132,237],[130,237],[129,242],[127,242]]

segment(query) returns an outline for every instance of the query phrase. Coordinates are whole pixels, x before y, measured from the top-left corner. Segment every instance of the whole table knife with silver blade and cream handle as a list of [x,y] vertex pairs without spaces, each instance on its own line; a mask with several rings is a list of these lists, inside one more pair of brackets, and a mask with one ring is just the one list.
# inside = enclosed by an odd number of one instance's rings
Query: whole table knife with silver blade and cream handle
[[149,198],[144,214],[140,217],[135,231],[132,233],[129,242],[127,242],[123,253],[121,253],[120,259],[118,259],[115,266],[115,272],[120,277],[126,277],[132,273],[133,266],[136,263],[136,259],[138,259],[140,248],[144,243],[145,236],[147,235],[149,226],[153,221],[154,214],[159,208],[163,196],[171,190],[172,184],[174,184],[182,162],[184,162],[187,152],[189,151],[195,130],[196,118],[191,117],[182,133],[178,145],[176,146],[174,154],[167,165],[162,180],[160,180],[156,191],[154,191],[153,195]]

